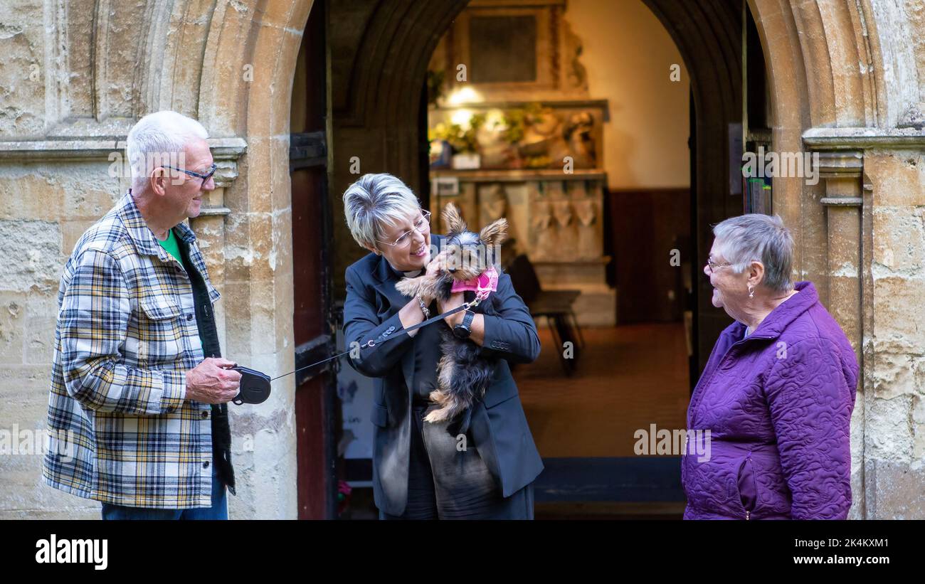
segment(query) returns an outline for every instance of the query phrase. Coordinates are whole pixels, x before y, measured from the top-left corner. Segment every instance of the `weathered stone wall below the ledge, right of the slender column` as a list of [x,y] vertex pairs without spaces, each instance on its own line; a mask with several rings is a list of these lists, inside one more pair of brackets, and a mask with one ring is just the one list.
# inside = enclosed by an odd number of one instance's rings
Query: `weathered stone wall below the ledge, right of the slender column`
[[872,204],[864,469],[870,518],[925,517],[925,152],[865,152]]

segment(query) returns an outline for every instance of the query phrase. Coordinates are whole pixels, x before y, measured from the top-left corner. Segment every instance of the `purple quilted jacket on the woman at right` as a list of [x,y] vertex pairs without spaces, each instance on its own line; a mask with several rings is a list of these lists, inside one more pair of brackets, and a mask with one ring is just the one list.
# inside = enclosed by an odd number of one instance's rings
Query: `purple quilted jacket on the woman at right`
[[734,322],[713,347],[687,409],[685,519],[848,514],[857,358],[816,288],[796,289],[752,335]]

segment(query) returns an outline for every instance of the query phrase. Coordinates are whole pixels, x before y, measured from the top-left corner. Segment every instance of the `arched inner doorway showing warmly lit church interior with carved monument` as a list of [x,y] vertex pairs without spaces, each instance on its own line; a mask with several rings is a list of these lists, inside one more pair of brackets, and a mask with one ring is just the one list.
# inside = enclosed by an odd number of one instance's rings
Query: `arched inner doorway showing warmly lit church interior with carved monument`
[[540,331],[515,370],[546,467],[537,517],[680,513],[678,459],[635,447],[685,428],[697,360],[677,47],[641,2],[478,2],[427,79],[429,205],[508,219],[502,265]]

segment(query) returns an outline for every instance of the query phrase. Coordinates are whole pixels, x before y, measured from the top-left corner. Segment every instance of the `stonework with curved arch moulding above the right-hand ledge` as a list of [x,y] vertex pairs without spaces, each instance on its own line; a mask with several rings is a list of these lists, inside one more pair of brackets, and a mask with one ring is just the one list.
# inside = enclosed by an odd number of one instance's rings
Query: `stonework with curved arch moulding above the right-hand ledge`
[[[760,22],[769,75],[776,63],[778,75],[803,78],[802,107],[779,102],[808,110],[804,129],[895,128],[910,108],[921,108],[925,79],[917,67],[917,45],[910,41],[915,34],[915,15],[907,12],[911,6],[875,0],[748,0],[748,6]],[[780,93],[775,92],[785,97]]]

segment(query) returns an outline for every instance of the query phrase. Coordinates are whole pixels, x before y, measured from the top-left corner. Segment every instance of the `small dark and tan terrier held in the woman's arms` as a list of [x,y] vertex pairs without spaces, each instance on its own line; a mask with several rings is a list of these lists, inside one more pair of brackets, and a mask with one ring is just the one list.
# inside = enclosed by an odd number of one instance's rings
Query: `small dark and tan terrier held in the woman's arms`
[[[403,278],[395,289],[404,296],[420,295],[426,304],[435,298],[446,301],[454,281],[472,280],[496,266],[500,243],[507,237],[508,222],[499,219],[475,234],[462,221],[459,210],[452,203],[443,210],[443,223],[449,232],[443,249],[436,258],[439,268],[434,274],[416,278]],[[467,292],[466,295],[472,293]],[[488,297],[491,300],[491,297]],[[488,384],[495,374],[498,359],[486,359],[478,354],[478,347],[468,339],[456,338],[450,329],[442,331],[440,348],[443,357],[438,364],[438,389],[431,392],[430,399],[439,408],[425,417],[429,422],[453,420],[465,412],[462,432],[468,427],[468,419],[476,400],[485,395]]]

